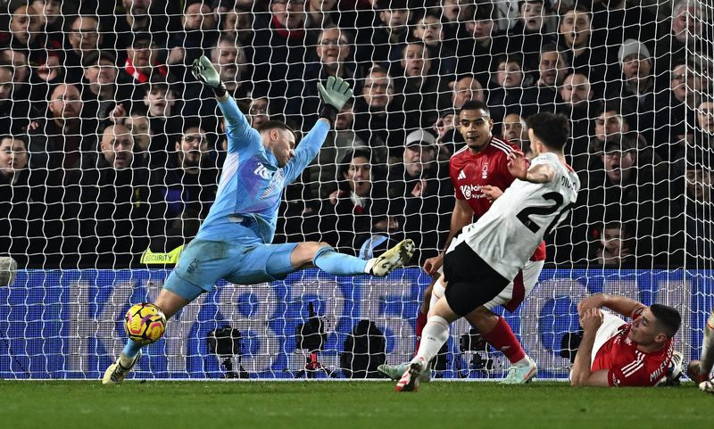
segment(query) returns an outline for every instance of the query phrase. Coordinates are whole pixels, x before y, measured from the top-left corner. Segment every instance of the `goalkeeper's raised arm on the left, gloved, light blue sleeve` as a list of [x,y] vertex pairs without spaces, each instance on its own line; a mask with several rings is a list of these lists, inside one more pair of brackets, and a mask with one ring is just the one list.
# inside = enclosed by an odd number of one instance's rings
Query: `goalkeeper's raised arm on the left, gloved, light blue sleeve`
[[[245,119],[243,112],[238,109],[236,100],[228,95],[226,85],[221,82],[218,71],[213,67],[208,57],[201,55],[201,58],[195,60],[191,66],[191,73],[193,73],[194,77],[201,81],[203,85],[211,87],[215,93],[219,102],[220,111],[222,111],[223,116],[226,117],[226,134],[229,137],[229,144],[231,141],[238,144],[247,144],[251,140],[250,135],[258,135],[258,133],[251,128],[248,120]],[[253,140],[254,139],[253,136]],[[231,148],[228,147],[229,151],[230,149]]]

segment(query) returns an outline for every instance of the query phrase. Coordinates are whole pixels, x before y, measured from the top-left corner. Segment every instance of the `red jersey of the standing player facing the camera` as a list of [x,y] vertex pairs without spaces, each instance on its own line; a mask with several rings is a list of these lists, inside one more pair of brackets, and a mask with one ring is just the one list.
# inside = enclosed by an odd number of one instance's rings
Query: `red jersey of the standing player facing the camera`
[[[491,208],[491,202],[481,192],[481,186],[496,186],[502,191],[511,186],[514,178],[508,170],[508,154],[518,150],[508,141],[491,137],[491,142],[479,153],[471,153],[466,146],[449,160],[449,176],[456,199],[466,200],[477,218]],[[545,243],[535,250],[531,260],[545,260]]]

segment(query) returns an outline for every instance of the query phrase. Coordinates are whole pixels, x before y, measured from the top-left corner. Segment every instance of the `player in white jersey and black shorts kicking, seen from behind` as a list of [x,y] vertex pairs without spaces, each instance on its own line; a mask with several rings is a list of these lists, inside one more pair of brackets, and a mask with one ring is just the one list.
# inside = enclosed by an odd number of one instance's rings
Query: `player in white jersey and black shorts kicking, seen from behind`
[[516,180],[476,223],[464,227],[444,255],[444,297],[429,310],[419,351],[396,384],[416,391],[419,375],[449,338],[449,325],[494,299],[523,268],[544,236],[576,202],[580,180],[563,156],[569,136],[562,115],[538,113],[527,120],[535,158],[509,155]]

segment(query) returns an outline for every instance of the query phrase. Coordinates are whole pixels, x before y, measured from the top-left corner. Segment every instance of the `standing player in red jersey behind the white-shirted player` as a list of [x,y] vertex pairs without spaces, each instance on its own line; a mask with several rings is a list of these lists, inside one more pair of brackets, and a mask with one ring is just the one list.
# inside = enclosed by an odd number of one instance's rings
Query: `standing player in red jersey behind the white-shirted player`
[[[449,235],[444,245],[448,249],[453,237],[459,234],[475,219],[480,218],[491,208],[494,199],[503,190],[511,186],[514,178],[508,165],[508,155],[516,146],[492,134],[494,120],[485,103],[469,101],[461,106],[458,118],[458,128],[467,146],[452,155],[449,160],[449,174],[456,194],[456,205],[452,212]],[[417,345],[421,331],[427,323],[427,314],[432,303],[444,296],[444,283],[441,281],[441,267],[444,252],[429,258],[424,263],[424,270],[434,277],[434,281],[424,293],[424,301],[417,318]],[[479,334],[492,344],[511,362],[508,375],[502,380],[504,384],[524,384],[530,381],[537,372],[535,362],[523,351],[518,339],[511,331],[511,326],[505,319],[496,315],[492,309],[502,305],[509,311],[515,311],[523,299],[533,290],[538,280],[545,260],[545,243],[541,243],[528,265],[519,273],[514,281],[502,293],[478,307],[469,314],[467,320]],[[402,377],[407,364],[381,365],[379,371],[393,380]],[[422,373],[422,381],[427,381],[429,371]]]

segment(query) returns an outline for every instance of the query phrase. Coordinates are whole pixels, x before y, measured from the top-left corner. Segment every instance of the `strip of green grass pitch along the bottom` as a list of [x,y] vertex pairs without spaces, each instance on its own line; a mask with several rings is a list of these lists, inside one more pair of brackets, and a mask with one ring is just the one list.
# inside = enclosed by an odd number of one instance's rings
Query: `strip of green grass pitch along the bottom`
[[714,396],[671,388],[565,383],[0,381],[0,422],[42,428],[714,427]]

